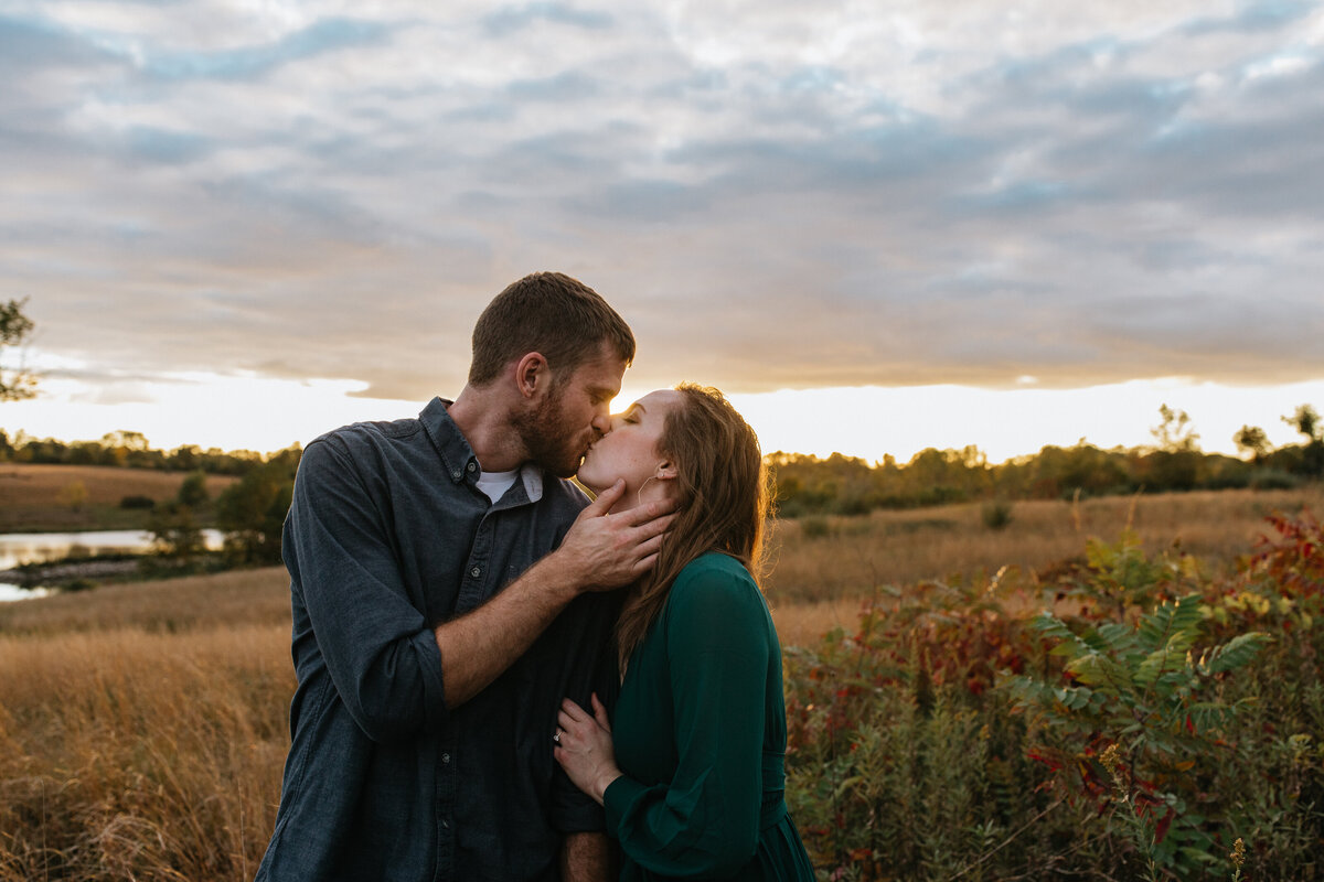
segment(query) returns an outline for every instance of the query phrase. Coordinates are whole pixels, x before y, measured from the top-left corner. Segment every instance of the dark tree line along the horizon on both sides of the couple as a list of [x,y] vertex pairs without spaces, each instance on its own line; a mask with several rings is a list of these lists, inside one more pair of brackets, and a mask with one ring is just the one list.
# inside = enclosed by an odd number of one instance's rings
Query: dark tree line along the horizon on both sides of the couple
[[[767,460],[782,517],[805,514],[865,514],[876,508],[918,508],[978,500],[1043,500],[1119,493],[1161,493],[1194,489],[1283,489],[1324,477],[1324,419],[1311,405],[1284,417],[1301,435],[1296,444],[1272,447],[1263,428],[1243,426],[1234,442],[1242,456],[1206,454],[1190,418],[1160,409],[1161,422],[1147,447],[1102,450],[1082,439],[1072,447],[1043,447],[1038,454],[990,464],[978,447],[927,448],[910,461],[891,455],[880,463],[833,454],[769,454]],[[241,480],[216,500],[216,522],[233,533],[234,553],[244,562],[279,554],[279,524],[289,505],[302,451],[275,454],[201,450],[196,446],[154,450],[139,432],[117,431],[99,442],[64,443],[26,438],[11,440],[0,430],[0,461],[118,465],[201,475],[233,475]],[[185,488],[189,487],[185,483]],[[181,495],[184,491],[181,491]],[[188,499],[163,508],[160,524],[197,521],[199,505]],[[273,508],[274,506],[274,508]],[[155,514],[154,514],[155,516]],[[197,538],[200,541],[200,538]]]

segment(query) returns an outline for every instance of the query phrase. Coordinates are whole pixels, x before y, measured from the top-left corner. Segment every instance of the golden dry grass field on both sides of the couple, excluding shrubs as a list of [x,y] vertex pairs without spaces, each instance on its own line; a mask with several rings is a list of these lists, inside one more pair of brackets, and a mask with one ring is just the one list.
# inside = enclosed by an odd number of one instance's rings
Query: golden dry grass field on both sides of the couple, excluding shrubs
[[[808,645],[854,627],[878,586],[1012,565],[1033,588],[1086,537],[1115,541],[1128,524],[1151,549],[1178,543],[1226,569],[1264,513],[1321,502],[1320,488],[1021,502],[1002,530],[978,506],[786,522],[767,587],[782,643]],[[0,881],[250,879],[293,688],[279,567],[0,604]]]

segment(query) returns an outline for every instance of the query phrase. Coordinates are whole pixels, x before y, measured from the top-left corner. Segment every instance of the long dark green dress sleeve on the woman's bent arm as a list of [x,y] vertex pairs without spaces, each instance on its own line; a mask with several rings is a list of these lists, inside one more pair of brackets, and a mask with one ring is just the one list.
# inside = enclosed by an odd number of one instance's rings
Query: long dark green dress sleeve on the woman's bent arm
[[715,569],[686,575],[663,612],[678,767],[655,787],[613,782],[608,829],[654,873],[724,875],[757,848],[769,647],[752,579]]

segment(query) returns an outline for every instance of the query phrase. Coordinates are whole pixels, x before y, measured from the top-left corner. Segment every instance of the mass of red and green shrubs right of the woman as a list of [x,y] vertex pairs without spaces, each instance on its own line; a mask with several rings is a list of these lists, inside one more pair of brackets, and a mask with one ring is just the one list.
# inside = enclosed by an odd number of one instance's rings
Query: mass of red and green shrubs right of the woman
[[1211,882],[1238,838],[1242,878],[1324,878],[1324,529],[1270,525],[1217,579],[1124,534],[789,649],[786,799],[824,878]]

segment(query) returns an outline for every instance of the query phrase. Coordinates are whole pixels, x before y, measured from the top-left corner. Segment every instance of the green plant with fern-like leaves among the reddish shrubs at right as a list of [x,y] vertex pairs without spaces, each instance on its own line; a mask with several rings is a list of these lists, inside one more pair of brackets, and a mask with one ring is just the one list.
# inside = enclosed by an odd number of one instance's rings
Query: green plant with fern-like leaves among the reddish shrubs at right
[[1198,594],[1162,603],[1135,624],[1072,631],[1043,612],[1033,627],[1063,659],[1062,681],[1018,677],[1013,685],[1042,739],[1034,755],[1057,772],[1059,787],[1095,801],[1125,832],[1151,879],[1189,878],[1214,860],[1222,807],[1201,775],[1227,755],[1229,726],[1254,701],[1225,700],[1222,682],[1270,643],[1254,631],[1209,645],[1205,619]]

